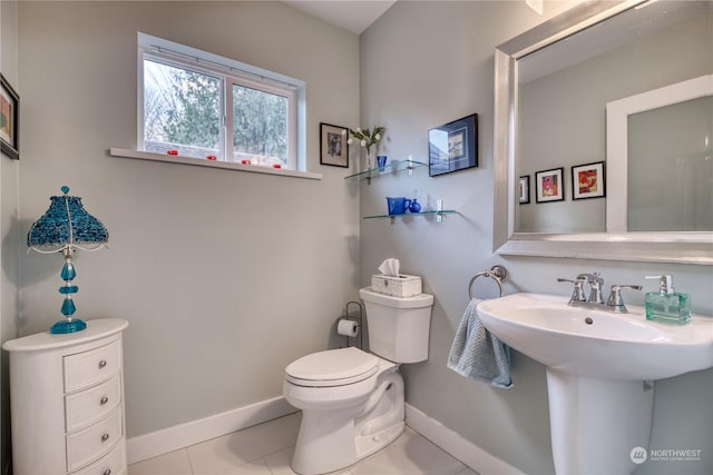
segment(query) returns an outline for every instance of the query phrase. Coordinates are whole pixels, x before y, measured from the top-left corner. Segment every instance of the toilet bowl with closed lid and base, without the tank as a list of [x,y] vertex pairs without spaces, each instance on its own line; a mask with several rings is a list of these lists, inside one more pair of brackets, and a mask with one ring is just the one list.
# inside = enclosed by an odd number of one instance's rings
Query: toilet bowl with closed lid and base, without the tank
[[[325,366],[329,376],[316,379],[318,368]],[[303,412],[292,459],[292,469],[301,475],[346,467],[403,432],[403,379],[398,366],[358,348],[295,360],[285,369],[283,394]]]

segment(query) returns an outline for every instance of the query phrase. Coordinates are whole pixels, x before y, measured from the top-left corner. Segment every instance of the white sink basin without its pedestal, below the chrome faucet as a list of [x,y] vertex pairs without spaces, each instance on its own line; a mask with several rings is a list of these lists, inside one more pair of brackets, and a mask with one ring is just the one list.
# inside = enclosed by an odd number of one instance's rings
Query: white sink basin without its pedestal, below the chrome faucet
[[603,379],[662,379],[713,367],[713,318],[686,325],[567,305],[568,298],[514,294],[478,305],[482,324],[500,340],[548,366]]

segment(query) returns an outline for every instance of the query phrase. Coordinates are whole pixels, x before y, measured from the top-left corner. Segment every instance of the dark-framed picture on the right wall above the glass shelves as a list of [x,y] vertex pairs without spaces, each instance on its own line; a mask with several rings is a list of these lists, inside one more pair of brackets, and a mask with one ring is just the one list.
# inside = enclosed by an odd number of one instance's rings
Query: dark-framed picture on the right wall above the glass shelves
[[429,176],[478,166],[478,115],[428,131]]

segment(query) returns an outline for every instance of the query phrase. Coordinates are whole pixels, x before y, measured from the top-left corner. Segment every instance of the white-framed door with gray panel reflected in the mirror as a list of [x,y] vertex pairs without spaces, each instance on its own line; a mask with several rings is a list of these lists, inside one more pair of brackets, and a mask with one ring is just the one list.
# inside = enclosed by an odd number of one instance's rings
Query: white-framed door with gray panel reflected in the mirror
[[606,105],[608,231],[713,230],[713,75]]

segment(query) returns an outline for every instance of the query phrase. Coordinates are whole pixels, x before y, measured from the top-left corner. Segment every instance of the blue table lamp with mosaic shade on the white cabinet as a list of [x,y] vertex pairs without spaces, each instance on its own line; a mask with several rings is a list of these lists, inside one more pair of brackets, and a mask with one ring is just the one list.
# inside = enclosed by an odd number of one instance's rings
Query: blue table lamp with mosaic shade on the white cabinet
[[65,286],[59,288],[59,293],[65,296],[60,310],[65,319],[50,328],[51,334],[81,331],[87,327],[82,320],[72,318],[77,307],[71,296],[79,291],[79,287],[71,284],[77,276],[71,258],[75,249],[98,250],[109,241],[107,228],[87,212],[81,198],[69,196],[68,187],[62,187],[61,190],[65,195],[50,197],[49,209],[32,224],[27,235],[30,249],[42,254],[62,253],[65,257],[60,273]]

